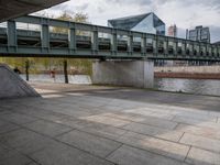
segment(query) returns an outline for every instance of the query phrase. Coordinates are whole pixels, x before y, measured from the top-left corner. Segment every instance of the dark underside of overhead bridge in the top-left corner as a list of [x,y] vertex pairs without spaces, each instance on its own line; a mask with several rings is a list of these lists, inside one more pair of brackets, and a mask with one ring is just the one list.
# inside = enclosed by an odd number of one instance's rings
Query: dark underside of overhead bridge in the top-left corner
[[0,0],[0,22],[43,10],[67,0]]

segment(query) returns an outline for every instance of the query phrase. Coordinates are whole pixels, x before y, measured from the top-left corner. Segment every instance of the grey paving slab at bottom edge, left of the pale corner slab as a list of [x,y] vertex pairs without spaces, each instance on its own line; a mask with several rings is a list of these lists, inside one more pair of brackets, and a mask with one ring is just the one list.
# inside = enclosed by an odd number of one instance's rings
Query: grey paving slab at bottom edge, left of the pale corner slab
[[127,145],[113,152],[108,160],[119,165],[184,165],[178,161]]

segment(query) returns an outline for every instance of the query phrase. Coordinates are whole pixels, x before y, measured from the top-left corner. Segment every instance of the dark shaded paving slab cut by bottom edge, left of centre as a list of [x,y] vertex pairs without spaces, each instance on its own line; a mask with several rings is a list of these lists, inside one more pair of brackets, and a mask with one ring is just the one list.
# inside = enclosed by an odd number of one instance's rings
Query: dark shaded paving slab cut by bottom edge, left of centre
[[113,165],[77,148],[57,143],[31,155],[42,165]]

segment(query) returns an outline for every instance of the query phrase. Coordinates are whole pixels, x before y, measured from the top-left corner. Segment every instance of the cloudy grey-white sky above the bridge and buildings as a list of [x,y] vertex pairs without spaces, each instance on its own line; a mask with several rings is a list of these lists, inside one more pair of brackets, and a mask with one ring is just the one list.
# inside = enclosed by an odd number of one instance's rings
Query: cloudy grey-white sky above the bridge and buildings
[[84,12],[92,24],[107,25],[107,20],[154,12],[166,26],[176,24],[179,37],[186,29],[209,26],[212,42],[220,41],[220,0],[70,0],[44,12]]

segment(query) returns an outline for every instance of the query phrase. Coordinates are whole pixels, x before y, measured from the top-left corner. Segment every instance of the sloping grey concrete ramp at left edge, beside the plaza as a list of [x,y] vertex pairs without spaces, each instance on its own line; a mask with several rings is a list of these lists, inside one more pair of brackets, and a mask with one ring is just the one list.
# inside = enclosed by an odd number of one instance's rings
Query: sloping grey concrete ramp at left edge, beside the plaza
[[0,64],[0,99],[38,96],[40,95],[9,66]]

